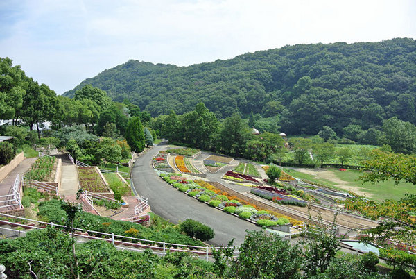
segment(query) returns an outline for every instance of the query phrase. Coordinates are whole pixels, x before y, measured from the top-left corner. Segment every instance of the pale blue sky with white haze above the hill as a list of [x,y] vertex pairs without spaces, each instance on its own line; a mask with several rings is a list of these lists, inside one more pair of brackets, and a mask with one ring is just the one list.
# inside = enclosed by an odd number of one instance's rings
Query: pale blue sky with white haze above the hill
[[415,0],[1,0],[0,57],[57,94],[130,59],[187,66],[293,44],[416,39]]

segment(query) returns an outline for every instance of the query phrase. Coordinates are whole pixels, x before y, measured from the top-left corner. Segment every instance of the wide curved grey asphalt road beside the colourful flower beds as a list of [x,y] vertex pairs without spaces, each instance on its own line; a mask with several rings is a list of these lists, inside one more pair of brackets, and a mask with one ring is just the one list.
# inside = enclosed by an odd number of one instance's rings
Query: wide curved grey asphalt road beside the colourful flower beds
[[215,237],[209,244],[227,245],[234,238],[234,245],[244,241],[245,230],[259,230],[260,228],[248,221],[211,208],[194,198],[179,192],[165,183],[153,170],[151,159],[166,145],[154,146],[137,158],[132,169],[132,178],[138,194],[149,198],[150,207],[155,214],[178,223],[191,218],[214,229]]

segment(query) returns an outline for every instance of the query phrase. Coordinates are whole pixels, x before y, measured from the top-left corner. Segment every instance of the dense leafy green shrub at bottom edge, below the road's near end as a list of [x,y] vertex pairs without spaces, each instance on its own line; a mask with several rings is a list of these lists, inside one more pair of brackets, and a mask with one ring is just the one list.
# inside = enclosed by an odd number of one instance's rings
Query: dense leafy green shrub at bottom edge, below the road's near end
[[248,231],[239,257],[232,266],[235,278],[296,278],[300,276],[302,257],[297,245],[291,245],[264,230]]

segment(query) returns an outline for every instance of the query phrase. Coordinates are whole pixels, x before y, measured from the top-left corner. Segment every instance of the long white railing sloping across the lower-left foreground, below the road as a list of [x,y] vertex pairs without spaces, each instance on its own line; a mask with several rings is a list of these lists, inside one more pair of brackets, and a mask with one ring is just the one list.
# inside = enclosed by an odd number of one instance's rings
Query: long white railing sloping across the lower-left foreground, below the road
[[[29,221],[31,223],[40,223],[41,226],[51,226],[55,228],[66,228],[66,226],[58,225],[55,223],[46,223],[43,221],[37,221],[33,219],[27,219],[23,217],[15,217],[9,214],[3,214],[0,212],[0,217],[7,217],[12,219],[18,219],[18,220],[24,220]],[[26,229],[42,229],[40,227],[37,227],[33,224],[22,224],[22,223],[16,223],[12,221],[5,221],[0,220],[1,225],[10,225],[10,226],[21,226],[22,228]],[[15,230],[12,228],[3,228],[0,226],[0,229],[3,230],[12,230],[18,233],[22,233],[24,231],[22,230]],[[168,243],[168,242],[156,242],[154,240],[149,239],[140,239],[136,237],[127,237],[125,235],[114,235],[114,233],[102,233],[97,232],[94,230],[85,230],[83,228],[73,228],[76,230],[75,236],[77,237],[77,242],[87,242],[83,239],[99,239],[107,242],[111,242],[116,248],[123,249],[123,250],[130,250],[130,251],[144,251],[144,249],[150,249],[152,253],[156,255],[166,255],[168,251],[171,252],[185,252],[185,253],[191,253],[195,255],[198,258],[202,258],[205,260],[209,260],[212,258],[212,249],[220,249],[221,247],[209,247],[209,246],[193,246],[193,245],[185,245],[185,244],[174,244],[174,243]],[[77,233],[78,232],[78,233]],[[81,232],[81,233],[79,233]],[[83,234],[84,233],[84,234]],[[87,235],[85,235],[87,233]],[[96,237],[94,235],[99,235],[99,237]],[[80,239],[83,238],[83,239]],[[123,247],[121,247],[123,245]],[[234,257],[236,257],[239,254],[238,247],[236,247],[236,251],[234,251]]]

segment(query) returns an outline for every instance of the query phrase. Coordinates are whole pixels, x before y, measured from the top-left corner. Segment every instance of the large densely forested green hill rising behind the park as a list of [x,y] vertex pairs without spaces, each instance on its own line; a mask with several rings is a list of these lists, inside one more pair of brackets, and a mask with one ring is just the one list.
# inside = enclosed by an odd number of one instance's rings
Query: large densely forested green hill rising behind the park
[[220,118],[277,116],[291,134],[367,129],[393,116],[416,124],[416,42],[298,44],[189,67],[129,60],[64,95],[87,84],[153,116],[182,114],[202,101]]

